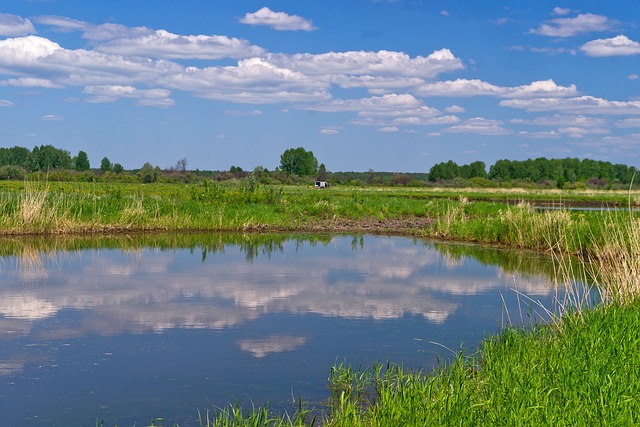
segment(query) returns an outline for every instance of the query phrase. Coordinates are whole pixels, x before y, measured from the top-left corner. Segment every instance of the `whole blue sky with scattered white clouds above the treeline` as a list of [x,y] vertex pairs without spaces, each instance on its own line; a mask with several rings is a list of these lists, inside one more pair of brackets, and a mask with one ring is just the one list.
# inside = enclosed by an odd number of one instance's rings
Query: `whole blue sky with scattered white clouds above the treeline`
[[4,0],[0,146],[125,168],[640,165],[640,2]]

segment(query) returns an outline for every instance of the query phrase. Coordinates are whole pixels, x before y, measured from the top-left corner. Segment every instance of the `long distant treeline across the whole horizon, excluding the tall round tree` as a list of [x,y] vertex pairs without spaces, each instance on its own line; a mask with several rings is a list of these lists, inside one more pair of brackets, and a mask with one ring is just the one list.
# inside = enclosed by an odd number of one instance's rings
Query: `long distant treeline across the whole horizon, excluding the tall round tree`
[[29,150],[24,147],[0,148],[0,180],[24,179],[46,174],[51,181],[122,181],[122,182],[196,182],[202,179],[225,181],[252,176],[264,184],[301,184],[322,179],[338,185],[391,185],[419,187],[447,186],[536,186],[536,187],[599,187],[628,186],[637,169],[623,164],[590,159],[498,160],[488,172],[484,162],[458,165],[449,160],[435,164],[429,173],[328,172],[321,165],[315,177],[300,177],[279,168],[268,171],[257,166],[252,172],[231,166],[228,171],[188,170],[187,160],[180,159],[171,167],[161,170],[145,163],[140,169],[126,171],[119,163],[104,157],[99,168],[91,168],[87,154],[79,151],[71,156],[66,150],[52,145],[40,145]]

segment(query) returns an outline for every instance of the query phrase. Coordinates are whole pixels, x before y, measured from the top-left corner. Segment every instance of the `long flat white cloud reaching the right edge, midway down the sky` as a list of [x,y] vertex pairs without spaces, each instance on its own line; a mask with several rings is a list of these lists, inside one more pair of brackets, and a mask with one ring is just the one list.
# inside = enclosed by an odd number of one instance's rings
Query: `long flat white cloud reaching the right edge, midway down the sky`
[[500,101],[500,105],[527,111],[564,111],[575,114],[640,114],[640,101],[608,101],[593,96],[509,99]]

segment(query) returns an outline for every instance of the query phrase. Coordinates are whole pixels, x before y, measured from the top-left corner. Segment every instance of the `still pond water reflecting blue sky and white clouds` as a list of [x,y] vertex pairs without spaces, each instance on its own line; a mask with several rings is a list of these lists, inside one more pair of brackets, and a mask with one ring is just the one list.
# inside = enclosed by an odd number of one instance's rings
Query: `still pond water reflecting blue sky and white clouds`
[[230,402],[318,406],[336,362],[430,369],[537,319],[522,295],[552,307],[552,270],[401,237],[3,239],[0,420],[193,426]]

